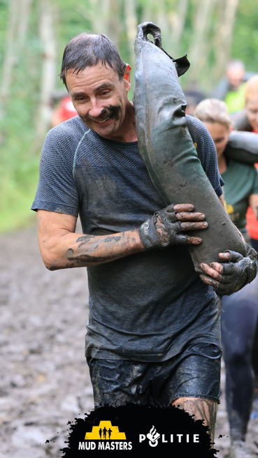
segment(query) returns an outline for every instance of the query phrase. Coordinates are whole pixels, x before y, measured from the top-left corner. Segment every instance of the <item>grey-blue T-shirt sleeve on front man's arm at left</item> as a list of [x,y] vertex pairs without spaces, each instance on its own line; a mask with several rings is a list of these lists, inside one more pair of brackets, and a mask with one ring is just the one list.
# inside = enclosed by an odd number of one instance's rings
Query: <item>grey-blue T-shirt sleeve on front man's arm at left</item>
[[[60,125],[62,126],[62,125]],[[39,166],[38,189],[32,210],[49,210],[78,216],[79,196],[73,179],[76,141],[62,127],[45,138]]]

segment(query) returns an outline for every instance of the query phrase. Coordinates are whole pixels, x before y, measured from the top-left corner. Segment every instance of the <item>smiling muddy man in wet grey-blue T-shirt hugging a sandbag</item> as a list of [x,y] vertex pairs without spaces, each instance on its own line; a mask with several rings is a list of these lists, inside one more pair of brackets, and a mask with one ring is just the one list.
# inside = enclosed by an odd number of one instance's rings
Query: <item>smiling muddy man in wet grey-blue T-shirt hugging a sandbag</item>
[[[103,35],[80,34],[60,76],[78,112],[53,128],[41,155],[38,241],[50,270],[87,267],[86,357],[94,403],[180,405],[214,433],[220,393],[220,300],[252,281],[249,257],[195,272],[190,230],[205,230],[191,203],[166,204],[137,147],[130,67]],[[203,169],[222,199],[216,149],[187,117]],[[190,201],[190,198],[189,198]],[[176,202],[175,202],[176,203]],[[166,207],[166,208],[164,208]],[[83,234],[75,234],[80,214]],[[212,436],[213,438],[213,436]]]

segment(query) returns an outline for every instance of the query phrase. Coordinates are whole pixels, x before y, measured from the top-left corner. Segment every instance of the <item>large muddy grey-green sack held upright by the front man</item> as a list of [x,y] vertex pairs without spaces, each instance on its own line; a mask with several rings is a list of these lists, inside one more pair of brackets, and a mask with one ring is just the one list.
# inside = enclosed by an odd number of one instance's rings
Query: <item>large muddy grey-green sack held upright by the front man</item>
[[152,182],[167,205],[193,204],[208,221],[208,229],[191,231],[203,239],[198,246],[189,245],[194,268],[202,272],[200,263],[221,262],[218,255],[227,249],[245,256],[241,235],[217,198],[189,135],[185,96],[178,81],[182,69],[162,50],[160,29],[152,22],[137,28],[135,57],[138,148]]

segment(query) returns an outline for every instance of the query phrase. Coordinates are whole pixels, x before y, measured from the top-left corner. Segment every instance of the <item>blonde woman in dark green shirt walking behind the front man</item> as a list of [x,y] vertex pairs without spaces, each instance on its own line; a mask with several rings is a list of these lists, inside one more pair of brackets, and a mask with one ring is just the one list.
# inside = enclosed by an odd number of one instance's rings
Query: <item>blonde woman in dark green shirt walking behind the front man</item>
[[[254,165],[242,164],[224,156],[233,129],[224,102],[206,99],[197,105],[194,115],[203,121],[215,142],[220,175],[224,179],[227,212],[245,241],[248,206],[258,217],[258,175]],[[257,279],[231,296],[222,297],[222,348],[226,366],[226,401],[229,415],[230,458],[251,457],[245,447],[245,434],[252,408],[254,374],[252,344],[258,317]]]

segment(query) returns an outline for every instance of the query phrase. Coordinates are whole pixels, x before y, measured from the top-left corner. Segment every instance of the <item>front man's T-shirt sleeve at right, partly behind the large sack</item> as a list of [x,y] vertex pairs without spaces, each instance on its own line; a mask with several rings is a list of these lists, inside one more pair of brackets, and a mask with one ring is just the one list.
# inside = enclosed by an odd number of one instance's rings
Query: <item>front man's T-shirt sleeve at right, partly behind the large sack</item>
[[196,147],[196,152],[203,166],[203,170],[206,172],[215,193],[220,197],[220,195],[222,195],[224,180],[220,176],[217,165],[217,151],[213,139],[206,126],[204,126],[199,119],[187,114],[186,120],[189,134]]

